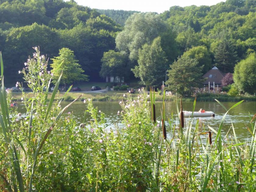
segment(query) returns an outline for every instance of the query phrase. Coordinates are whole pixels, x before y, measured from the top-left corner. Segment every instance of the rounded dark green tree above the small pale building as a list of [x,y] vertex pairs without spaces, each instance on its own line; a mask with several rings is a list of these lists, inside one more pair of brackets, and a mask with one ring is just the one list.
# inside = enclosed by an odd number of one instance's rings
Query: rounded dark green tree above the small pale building
[[109,50],[105,52],[102,59],[102,66],[100,71],[100,76],[113,76],[126,78],[129,75],[130,69],[127,69],[128,56],[125,52],[115,52],[114,50]]

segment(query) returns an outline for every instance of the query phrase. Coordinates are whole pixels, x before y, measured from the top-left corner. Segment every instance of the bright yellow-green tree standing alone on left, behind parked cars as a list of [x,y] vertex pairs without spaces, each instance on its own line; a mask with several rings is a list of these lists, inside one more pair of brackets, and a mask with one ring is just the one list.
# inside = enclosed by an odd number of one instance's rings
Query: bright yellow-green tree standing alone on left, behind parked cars
[[[53,82],[56,82],[62,73],[61,82],[64,84],[65,90],[66,85],[74,81],[88,81],[88,76],[82,74],[84,70],[80,68],[81,66],[77,63],[78,60],[75,59],[74,52],[69,48],[60,49],[59,56],[54,57],[52,61]],[[59,67],[61,62],[63,63]]]

